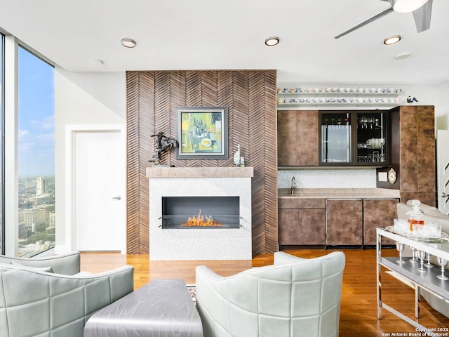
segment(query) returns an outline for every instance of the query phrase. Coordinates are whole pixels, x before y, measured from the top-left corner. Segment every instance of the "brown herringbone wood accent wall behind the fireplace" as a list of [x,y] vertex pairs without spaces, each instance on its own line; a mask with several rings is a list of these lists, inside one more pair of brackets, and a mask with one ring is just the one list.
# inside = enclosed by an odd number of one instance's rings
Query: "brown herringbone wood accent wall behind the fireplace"
[[228,107],[229,159],[177,160],[177,167],[233,166],[241,145],[253,166],[253,255],[278,249],[276,70],[127,72],[127,253],[149,252],[149,190],[146,168],[154,151],[151,135],[175,137],[175,108]]

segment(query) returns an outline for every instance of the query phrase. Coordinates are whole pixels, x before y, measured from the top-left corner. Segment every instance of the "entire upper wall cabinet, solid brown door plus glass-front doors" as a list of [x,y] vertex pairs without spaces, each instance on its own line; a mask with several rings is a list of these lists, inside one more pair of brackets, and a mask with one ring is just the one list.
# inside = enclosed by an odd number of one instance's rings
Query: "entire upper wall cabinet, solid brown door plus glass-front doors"
[[385,166],[387,110],[278,110],[278,166]]

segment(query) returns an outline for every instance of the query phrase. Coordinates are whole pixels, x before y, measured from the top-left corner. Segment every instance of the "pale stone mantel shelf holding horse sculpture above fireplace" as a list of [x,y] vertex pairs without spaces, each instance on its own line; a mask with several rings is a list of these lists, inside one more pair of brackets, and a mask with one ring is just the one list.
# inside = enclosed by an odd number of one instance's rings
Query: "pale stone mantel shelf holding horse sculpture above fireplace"
[[251,178],[253,167],[147,167],[147,178]]

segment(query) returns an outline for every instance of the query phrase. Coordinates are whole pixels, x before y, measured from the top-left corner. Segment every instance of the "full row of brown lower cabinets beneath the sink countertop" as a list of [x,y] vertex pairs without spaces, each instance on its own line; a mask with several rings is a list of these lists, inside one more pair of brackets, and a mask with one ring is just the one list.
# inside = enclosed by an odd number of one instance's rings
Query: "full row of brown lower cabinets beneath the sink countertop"
[[397,218],[398,202],[398,198],[279,199],[279,245],[372,248],[376,228],[392,225]]

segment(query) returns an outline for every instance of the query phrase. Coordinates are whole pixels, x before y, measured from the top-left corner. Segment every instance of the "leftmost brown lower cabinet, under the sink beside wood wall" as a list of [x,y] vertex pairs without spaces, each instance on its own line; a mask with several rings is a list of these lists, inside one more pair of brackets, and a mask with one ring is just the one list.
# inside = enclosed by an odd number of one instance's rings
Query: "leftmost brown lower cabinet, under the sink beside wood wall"
[[326,244],[325,199],[279,199],[279,245]]

